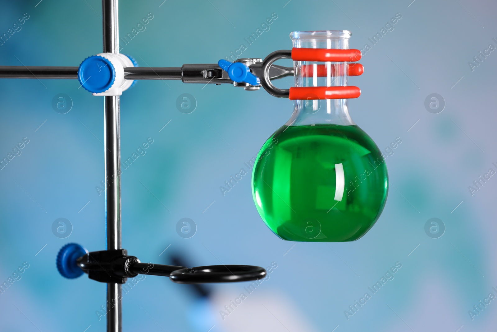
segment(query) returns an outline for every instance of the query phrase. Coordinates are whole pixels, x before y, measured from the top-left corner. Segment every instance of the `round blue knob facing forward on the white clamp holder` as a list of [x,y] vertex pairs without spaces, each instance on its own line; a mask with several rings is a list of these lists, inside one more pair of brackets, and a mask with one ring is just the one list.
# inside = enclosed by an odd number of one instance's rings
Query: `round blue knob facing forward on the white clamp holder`
[[92,55],[83,60],[78,69],[81,86],[91,93],[108,90],[116,79],[112,63],[99,55]]

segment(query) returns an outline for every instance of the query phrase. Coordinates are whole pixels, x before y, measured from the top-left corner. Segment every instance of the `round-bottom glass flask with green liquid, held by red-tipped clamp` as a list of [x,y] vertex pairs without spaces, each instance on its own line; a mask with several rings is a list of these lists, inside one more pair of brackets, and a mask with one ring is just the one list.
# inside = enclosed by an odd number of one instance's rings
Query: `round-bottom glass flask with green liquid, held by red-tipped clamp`
[[[348,49],[350,36],[344,30],[290,34],[294,49]],[[294,61],[295,87],[347,86],[348,73],[348,62]],[[357,240],[383,211],[385,160],[347,105],[347,99],[313,94],[296,100],[291,118],[257,155],[253,200],[262,220],[284,240]]]

